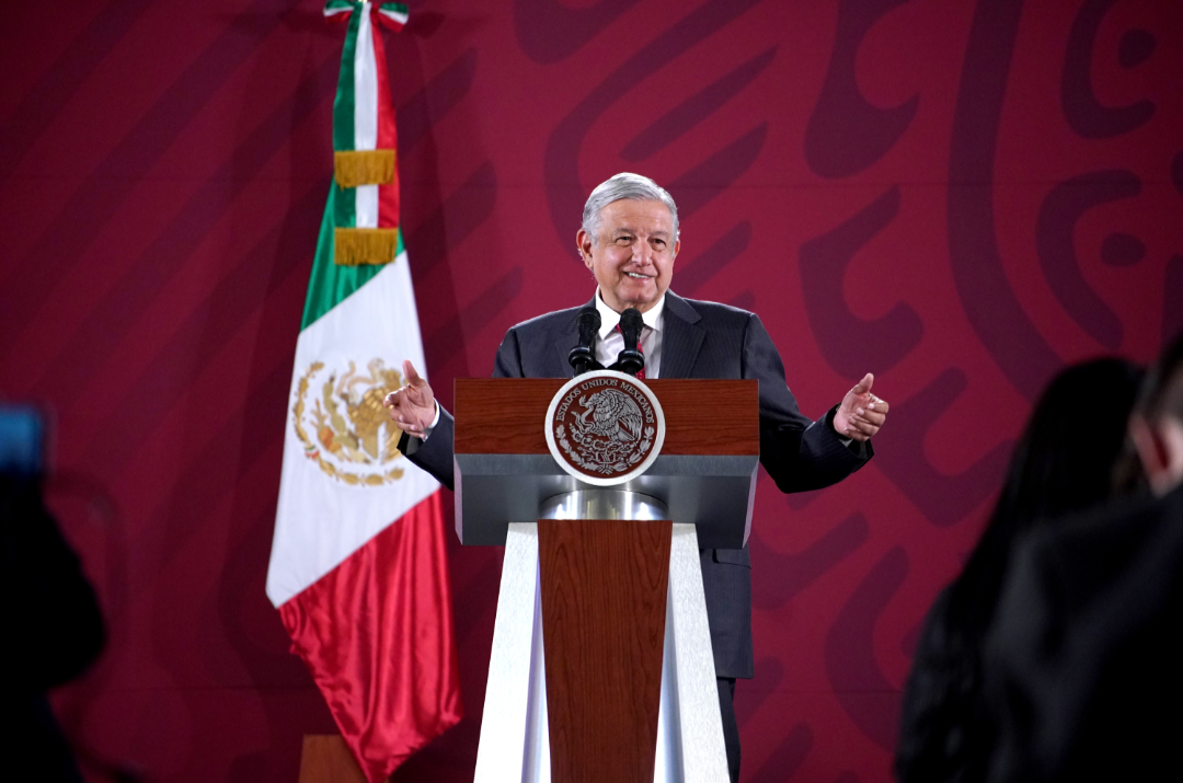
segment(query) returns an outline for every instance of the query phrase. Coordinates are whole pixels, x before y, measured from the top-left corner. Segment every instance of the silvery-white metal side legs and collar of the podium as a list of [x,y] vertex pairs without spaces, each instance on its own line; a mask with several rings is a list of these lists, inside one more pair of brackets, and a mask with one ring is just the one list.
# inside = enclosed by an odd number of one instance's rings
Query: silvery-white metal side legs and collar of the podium
[[[549,498],[541,519],[667,519],[655,499],[620,490]],[[538,525],[513,523],[497,601],[477,783],[549,783]],[[674,524],[670,549],[655,783],[726,781],[715,655],[694,525]]]

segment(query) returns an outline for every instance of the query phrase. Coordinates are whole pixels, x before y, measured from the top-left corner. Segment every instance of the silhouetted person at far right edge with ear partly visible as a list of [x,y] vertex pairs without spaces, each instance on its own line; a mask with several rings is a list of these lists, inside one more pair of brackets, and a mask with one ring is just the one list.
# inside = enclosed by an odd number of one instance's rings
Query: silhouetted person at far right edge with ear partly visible
[[1150,493],[1035,531],[1016,550],[983,659],[1002,726],[990,781],[1178,769],[1183,336],[1148,376],[1130,438]]

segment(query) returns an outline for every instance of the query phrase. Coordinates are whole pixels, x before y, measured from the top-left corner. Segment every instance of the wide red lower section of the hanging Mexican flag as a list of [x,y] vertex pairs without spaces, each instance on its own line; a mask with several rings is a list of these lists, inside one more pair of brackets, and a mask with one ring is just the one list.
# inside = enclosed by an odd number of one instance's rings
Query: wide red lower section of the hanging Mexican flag
[[460,720],[440,492],[279,614],[371,783]]

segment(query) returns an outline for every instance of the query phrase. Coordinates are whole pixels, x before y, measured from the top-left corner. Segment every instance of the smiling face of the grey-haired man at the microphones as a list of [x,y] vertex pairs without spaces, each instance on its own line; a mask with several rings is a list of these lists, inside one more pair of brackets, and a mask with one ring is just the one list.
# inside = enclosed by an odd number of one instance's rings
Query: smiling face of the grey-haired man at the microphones
[[583,263],[595,274],[603,302],[616,312],[645,312],[670,287],[680,242],[673,218],[660,201],[613,201],[600,211],[597,241],[576,234]]

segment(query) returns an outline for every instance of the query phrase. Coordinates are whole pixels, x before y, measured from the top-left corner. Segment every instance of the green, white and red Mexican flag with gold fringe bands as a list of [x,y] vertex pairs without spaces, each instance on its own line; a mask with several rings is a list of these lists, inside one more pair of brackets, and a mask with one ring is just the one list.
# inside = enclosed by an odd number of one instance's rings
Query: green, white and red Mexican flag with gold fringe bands
[[330,0],[324,13],[348,24],[334,183],[296,343],[267,597],[376,783],[463,708],[440,486],[399,453],[382,407],[402,360],[425,367],[377,30],[407,12]]

